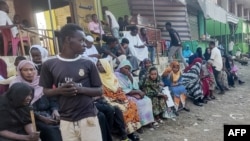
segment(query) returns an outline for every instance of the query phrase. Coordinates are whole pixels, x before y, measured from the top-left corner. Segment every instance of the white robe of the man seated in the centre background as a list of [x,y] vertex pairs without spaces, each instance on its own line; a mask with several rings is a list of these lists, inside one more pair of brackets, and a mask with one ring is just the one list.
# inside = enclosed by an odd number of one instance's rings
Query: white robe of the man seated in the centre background
[[148,48],[146,46],[144,48],[135,48],[135,45],[144,45],[138,34],[136,36],[132,36],[130,32],[125,32],[124,38],[129,40],[128,47],[132,56],[135,56],[139,61],[143,61],[144,59],[148,58]]

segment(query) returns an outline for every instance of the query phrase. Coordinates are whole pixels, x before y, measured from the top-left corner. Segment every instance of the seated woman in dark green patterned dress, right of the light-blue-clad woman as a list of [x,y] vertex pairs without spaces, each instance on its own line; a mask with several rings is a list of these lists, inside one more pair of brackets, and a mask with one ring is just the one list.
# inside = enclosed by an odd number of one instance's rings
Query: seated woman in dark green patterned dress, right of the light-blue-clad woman
[[151,67],[148,70],[148,76],[140,80],[140,88],[145,92],[153,104],[153,114],[156,122],[163,123],[161,115],[166,111],[168,99],[167,95],[162,93],[163,83],[158,74],[158,70],[155,67]]

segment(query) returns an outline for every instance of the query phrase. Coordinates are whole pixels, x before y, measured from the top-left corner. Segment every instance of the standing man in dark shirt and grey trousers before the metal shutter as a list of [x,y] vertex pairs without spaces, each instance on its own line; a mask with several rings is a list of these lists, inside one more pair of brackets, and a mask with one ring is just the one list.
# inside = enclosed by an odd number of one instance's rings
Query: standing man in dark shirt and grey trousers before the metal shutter
[[185,58],[182,56],[182,46],[181,46],[181,38],[176,30],[172,28],[172,24],[170,22],[166,23],[166,29],[169,32],[169,36],[171,38],[170,48],[168,52],[168,61],[171,63],[173,61],[173,56],[177,52],[178,56],[181,58],[181,61],[187,66]]

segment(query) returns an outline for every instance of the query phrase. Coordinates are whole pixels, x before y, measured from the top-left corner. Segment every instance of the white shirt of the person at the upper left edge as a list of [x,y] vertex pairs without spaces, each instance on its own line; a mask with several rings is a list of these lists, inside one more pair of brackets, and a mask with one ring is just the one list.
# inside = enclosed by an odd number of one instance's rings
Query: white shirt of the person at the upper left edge
[[[8,14],[6,12],[0,10],[0,26],[5,26],[5,25],[13,25],[13,23],[10,20]],[[18,33],[17,27],[12,27],[10,30],[11,30],[12,36],[16,37],[16,35]]]

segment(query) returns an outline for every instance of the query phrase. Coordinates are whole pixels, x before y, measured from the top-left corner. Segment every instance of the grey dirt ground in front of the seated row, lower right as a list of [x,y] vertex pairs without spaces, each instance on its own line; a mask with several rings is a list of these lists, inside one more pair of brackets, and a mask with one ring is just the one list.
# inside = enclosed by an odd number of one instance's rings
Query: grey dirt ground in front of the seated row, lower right
[[165,120],[155,131],[145,130],[143,141],[223,141],[224,124],[250,124],[250,65],[239,67],[246,83],[230,88],[224,95],[215,94],[216,100],[203,107],[188,101],[190,112]]

